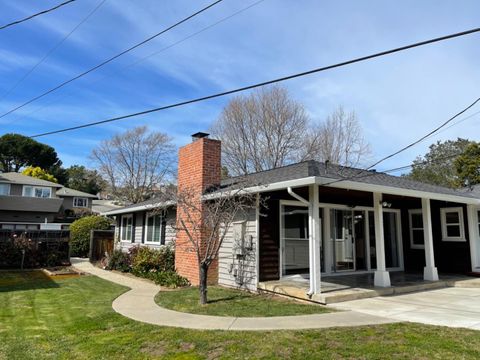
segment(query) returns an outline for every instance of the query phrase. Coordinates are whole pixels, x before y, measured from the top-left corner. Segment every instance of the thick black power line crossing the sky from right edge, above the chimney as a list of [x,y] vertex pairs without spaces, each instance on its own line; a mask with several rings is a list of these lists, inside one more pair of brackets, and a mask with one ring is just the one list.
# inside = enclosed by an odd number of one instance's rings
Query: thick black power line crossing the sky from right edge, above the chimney
[[[219,97],[223,97],[223,96],[226,96],[226,95],[231,95],[231,94],[243,92],[243,91],[246,91],[246,90],[255,89],[255,88],[266,86],[266,85],[271,85],[271,84],[275,84],[275,83],[279,83],[279,82],[283,82],[283,81],[287,81],[287,80],[291,80],[291,79],[295,79],[295,78],[299,78],[299,77],[304,77],[304,76],[307,76],[307,75],[312,75],[312,74],[315,74],[315,73],[319,73],[319,72],[323,72],[323,71],[327,71],[327,70],[331,70],[331,69],[355,64],[355,63],[358,63],[358,62],[363,62],[363,61],[374,59],[374,58],[377,58],[377,57],[386,56],[386,55],[390,55],[390,54],[397,53],[397,52],[400,52],[400,51],[404,51],[404,50],[408,50],[408,49],[412,49],[412,48],[416,48],[416,47],[420,47],[420,46],[424,46],[424,45],[428,45],[428,44],[432,44],[432,43],[436,43],[436,42],[440,42],[440,41],[444,41],[444,40],[449,40],[449,39],[453,39],[453,38],[457,38],[457,37],[460,37],[460,36],[465,36],[465,35],[469,35],[469,34],[473,34],[473,33],[477,33],[477,32],[480,32],[480,28],[474,28],[474,29],[462,31],[462,32],[459,32],[459,33],[445,35],[445,36],[433,38],[433,39],[430,39],[430,40],[425,40],[425,41],[417,42],[417,43],[414,43],[414,44],[409,44],[409,45],[401,46],[401,47],[398,47],[398,48],[381,51],[381,52],[374,53],[374,54],[371,54],[371,55],[362,56],[362,57],[355,58],[355,59],[352,59],[352,60],[343,61],[343,62],[336,63],[336,64],[333,64],[333,65],[327,65],[327,66],[324,66],[324,67],[320,67],[320,68],[304,71],[304,72],[301,72],[301,73],[296,73],[296,74],[293,74],[293,75],[288,75],[288,76],[276,78],[276,79],[273,79],[273,80],[268,80],[268,81],[256,83],[256,84],[253,84],[253,85],[247,85],[247,86],[236,88],[236,89],[233,89],[233,90],[223,91],[223,92],[220,92],[220,93],[211,94],[211,95],[207,95],[207,96],[202,96],[202,97],[199,97],[199,98],[190,99],[190,100],[186,100],[186,101],[182,101],[182,102],[178,102],[178,103],[174,103],[174,104],[170,104],[170,105],[165,105],[165,106],[161,106],[161,107],[156,107],[156,108],[153,108],[153,109],[139,111],[139,112],[128,114],[128,115],[117,116],[117,117],[113,117],[113,118],[110,118],[110,119],[105,119],[105,120],[86,123],[86,124],[83,124],[83,125],[72,126],[72,127],[68,127],[68,128],[64,128],[64,129],[60,129],[60,130],[53,130],[53,131],[49,131],[49,132],[45,132],[45,133],[40,133],[40,134],[32,135],[31,137],[35,138],[35,137],[41,137],[41,136],[46,136],[46,135],[53,135],[53,134],[58,134],[58,133],[62,133],[62,132],[78,130],[78,129],[83,129],[83,128],[86,128],[86,127],[105,124],[105,123],[109,123],[109,122],[113,122],[113,121],[128,119],[128,118],[132,118],[132,117],[136,117],[136,116],[140,116],[140,115],[146,115],[146,114],[150,114],[150,113],[154,113],[154,112],[158,112],[158,111],[162,111],[162,110],[181,107],[181,106],[184,106],[184,105],[193,104],[193,103],[197,103],[197,102],[201,102],[201,101],[206,101],[206,100],[210,100],[210,99],[214,99],[214,98],[219,98]],[[2,116],[0,116],[0,118],[2,118],[3,116],[5,116],[5,115],[7,115],[7,114],[9,114],[13,111],[15,111],[15,109],[9,111],[8,113],[6,113]]]

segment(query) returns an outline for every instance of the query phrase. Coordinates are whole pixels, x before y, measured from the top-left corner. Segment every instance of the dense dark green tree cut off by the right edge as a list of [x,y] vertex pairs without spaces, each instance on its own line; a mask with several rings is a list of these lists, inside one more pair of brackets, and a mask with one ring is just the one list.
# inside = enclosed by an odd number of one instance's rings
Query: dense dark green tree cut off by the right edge
[[454,162],[457,171],[457,185],[480,184],[480,144],[473,143]]

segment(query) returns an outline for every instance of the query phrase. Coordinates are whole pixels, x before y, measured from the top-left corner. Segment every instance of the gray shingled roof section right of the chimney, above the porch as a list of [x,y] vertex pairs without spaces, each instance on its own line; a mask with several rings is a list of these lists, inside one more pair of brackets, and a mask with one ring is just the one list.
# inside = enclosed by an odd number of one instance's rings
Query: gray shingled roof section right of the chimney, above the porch
[[[445,195],[455,195],[467,198],[479,198],[478,194],[466,193],[461,190],[454,190],[442,186],[430,185],[419,181],[414,181],[401,176],[392,176],[386,173],[365,171],[351,167],[344,167],[334,164],[328,164],[318,161],[304,161],[281,168],[261,171],[247,176],[230,178],[222,181],[222,187],[235,187],[236,183],[246,181],[253,185],[266,185],[281,181],[302,179],[311,176],[336,180],[349,180],[353,182],[366,183],[372,185],[389,186],[399,189],[417,190]],[[332,184],[332,186],[335,186]]]

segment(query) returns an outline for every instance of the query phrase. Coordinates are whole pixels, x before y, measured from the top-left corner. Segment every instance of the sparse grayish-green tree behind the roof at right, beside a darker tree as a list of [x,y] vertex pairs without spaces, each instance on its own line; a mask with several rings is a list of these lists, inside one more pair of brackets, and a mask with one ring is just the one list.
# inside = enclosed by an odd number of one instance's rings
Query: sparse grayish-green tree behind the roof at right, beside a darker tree
[[407,177],[433,185],[458,187],[459,175],[455,159],[471,144],[474,142],[461,138],[444,142],[437,141],[430,145],[428,152],[423,157],[419,156],[414,160],[412,171]]

